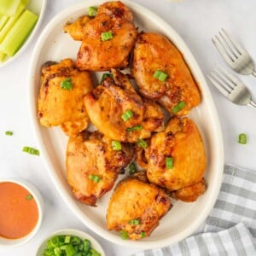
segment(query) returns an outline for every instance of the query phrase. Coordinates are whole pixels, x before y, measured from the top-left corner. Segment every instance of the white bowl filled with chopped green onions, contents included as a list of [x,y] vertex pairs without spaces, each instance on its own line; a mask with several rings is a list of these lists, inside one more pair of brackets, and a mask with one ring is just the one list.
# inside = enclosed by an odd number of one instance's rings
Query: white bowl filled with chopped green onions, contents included
[[81,230],[58,230],[47,236],[36,256],[106,256],[102,246]]

